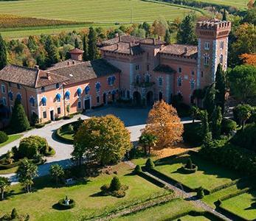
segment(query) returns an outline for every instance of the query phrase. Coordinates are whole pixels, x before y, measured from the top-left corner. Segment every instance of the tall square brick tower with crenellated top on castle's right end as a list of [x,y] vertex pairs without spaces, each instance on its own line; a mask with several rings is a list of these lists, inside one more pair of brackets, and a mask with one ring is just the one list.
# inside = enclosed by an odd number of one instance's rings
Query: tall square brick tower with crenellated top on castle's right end
[[227,52],[231,22],[213,18],[196,24],[198,35],[197,88],[204,88],[215,81],[219,63],[227,68]]

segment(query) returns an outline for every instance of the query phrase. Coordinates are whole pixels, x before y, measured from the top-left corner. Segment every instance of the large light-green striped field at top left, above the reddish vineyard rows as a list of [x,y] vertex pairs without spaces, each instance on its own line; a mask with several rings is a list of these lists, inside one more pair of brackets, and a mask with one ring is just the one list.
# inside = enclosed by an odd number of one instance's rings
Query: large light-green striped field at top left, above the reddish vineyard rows
[[24,0],[0,1],[0,13],[35,18],[92,22],[154,21],[183,17],[190,8],[140,0]]

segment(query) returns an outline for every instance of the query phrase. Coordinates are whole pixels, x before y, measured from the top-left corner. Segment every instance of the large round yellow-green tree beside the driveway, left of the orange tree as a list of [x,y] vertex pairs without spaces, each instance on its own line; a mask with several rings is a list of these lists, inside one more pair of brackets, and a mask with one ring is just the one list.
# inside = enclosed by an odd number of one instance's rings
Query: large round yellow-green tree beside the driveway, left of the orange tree
[[75,133],[74,144],[79,157],[83,153],[102,165],[117,164],[132,147],[125,124],[113,115],[86,119]]

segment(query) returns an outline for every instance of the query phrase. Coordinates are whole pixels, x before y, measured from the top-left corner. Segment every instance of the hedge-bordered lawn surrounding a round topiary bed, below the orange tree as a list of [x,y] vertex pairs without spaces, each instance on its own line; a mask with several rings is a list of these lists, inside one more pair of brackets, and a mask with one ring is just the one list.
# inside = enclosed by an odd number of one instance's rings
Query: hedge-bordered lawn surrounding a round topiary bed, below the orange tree
[[[181,172],[181,166],[187,163],[189,157],[192,159],[193,164],[198,166],[198,171],[193,174],[184,174]],[[230,183],[232,180],[241,178],[241,175],[237,172],[212,164],[198,155],[182,155],[172,160],[163,158],[156,161],[156,164],[156,170],[190,187],[190,189],[197,189],[202,186],[210,191],[218,186]]]

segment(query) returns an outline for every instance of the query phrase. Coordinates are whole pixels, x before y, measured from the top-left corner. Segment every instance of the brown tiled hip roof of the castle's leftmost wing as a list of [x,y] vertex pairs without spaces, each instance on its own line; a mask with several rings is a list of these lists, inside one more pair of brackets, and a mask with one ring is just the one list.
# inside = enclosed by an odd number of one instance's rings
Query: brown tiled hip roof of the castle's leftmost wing
[[41,88],[46,85],[65,82],[69,79],[49,71],[7,65],[0,71],[0,80],[25,85],[30,88]]

